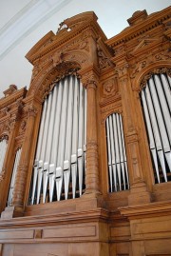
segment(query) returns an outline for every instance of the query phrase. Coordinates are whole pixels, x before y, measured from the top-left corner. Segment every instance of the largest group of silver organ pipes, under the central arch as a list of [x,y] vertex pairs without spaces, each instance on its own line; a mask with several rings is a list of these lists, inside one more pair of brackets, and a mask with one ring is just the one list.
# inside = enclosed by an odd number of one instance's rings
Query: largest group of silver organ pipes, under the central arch
[[85,189],[86,90],[70,75],[45,99],[28,204],[80,197]]

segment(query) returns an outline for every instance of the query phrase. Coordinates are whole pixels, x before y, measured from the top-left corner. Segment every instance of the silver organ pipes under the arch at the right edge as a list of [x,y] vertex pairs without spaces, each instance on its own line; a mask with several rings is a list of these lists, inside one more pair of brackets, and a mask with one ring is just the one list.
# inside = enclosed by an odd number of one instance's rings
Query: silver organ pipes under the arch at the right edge
[[171,181],[171,78],[154,74],[142,89],[142,108],[155,169],[155,182]]

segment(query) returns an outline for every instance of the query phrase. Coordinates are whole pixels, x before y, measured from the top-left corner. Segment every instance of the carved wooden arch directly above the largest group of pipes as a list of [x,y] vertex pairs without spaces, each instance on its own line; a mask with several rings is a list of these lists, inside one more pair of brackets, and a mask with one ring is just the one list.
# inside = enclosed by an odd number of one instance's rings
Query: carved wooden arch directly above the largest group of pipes
[[43,69],[32,80],[28,95],[37,94],[44,98],[53,88],[51,83],[62,79],[67,74],[89,65],[89,57],[83,50],[57,51]]

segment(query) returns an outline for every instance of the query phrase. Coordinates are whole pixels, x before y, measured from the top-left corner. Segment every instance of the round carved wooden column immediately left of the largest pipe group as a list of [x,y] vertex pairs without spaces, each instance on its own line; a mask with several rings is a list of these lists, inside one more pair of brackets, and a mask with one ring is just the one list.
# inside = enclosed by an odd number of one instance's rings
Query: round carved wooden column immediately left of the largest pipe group
[[30,151],[31,142],[32,142],[35,116],[36,116],[36,109],[32,106],[29,107],[25,140],[22,146],[20,164],[17,169],[15,185],[13,190],[13,200],[12,200],[13,207],[23,207],[24,205],[25,187],[26,187],[27,174],[28,174],[28,163],[30,161],[29,151]]

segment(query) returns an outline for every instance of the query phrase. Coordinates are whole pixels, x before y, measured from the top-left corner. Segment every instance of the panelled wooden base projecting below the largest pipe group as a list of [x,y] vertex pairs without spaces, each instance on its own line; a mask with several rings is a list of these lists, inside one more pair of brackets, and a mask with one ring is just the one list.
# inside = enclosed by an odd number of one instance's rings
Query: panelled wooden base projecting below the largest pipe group
[[1,256],[109,256],[108,211],[57,213],[0,221]]

